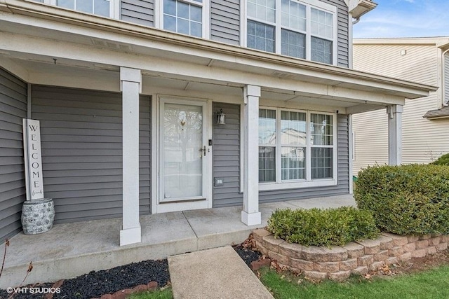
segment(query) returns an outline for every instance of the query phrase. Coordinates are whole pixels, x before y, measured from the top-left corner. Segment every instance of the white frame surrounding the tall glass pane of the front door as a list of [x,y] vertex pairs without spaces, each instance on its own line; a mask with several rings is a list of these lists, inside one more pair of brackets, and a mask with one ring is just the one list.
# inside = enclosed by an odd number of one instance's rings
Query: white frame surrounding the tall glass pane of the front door
[[[206,156],[203,156],[203,193],[205,200],[160,202],[161,197],[161,103],[186,104],[203,106],[203,146],[206,146]],[[152,214],[170,211],[185,211],[190,209],[212,208],[212,100],[193,97],[178,97],[173,95],[154,95],[152,97]]]

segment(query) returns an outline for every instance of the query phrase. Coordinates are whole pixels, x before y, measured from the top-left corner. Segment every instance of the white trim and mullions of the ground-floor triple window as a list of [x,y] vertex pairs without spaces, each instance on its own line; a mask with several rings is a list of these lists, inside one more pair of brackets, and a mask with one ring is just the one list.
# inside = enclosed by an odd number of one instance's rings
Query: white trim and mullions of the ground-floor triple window
[[[309,187],[321,187],[321,186],[337,186],[337,174],[338,174],[338,165],[337,165],[337,113],[329,113],[322,111],[306,111],[299,109],[284,109],[279,107],[270,107],[270,106],[260,106],[259,109],[269,109],[276,110],[276,181],[275,182],[267,182],[267,183],[259,183],[259,190],[283,190],[283,189],[296,189],[296,188],[309,188]],[[281,181],[281,156],[280,148],[281,144],[278,142],[279,140],[279,129],[281,122],[281,111],[295,111],[306,113],[307,115],[307,145],[306,145],[306,179],[301,179],[297,181]],[[333,179],[311,179],[311,144],[310,144],[310,115],[314,114],[322,114],[333,116]],[[320,147],[328,147],[328,146],[320,146]],[[258,166],[257,166],[258,167]]]

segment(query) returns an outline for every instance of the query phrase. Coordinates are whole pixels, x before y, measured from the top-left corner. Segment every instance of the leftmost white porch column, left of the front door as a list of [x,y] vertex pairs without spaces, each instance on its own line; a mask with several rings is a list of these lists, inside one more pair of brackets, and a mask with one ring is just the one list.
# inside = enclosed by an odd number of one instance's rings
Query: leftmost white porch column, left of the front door
[[120,246],[141,242],[139,222],[140,69],[120,68],[123,113],[123,224]]

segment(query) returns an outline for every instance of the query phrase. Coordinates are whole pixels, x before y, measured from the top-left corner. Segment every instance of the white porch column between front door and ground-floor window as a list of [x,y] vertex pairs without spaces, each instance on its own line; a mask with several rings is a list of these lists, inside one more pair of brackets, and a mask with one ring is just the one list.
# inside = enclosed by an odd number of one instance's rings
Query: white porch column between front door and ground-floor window
[[262,223],[259,211],[259,97],[260,86],[243,88],[244,158],[243,211],[241,221],[246,225]]

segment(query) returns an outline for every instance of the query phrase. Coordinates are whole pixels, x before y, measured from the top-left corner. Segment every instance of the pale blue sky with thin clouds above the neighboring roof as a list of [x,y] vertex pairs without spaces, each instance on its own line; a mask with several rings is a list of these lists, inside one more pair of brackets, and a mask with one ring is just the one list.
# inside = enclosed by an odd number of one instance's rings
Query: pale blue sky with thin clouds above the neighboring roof
[[354,25],[354,39],[449,36],[449,0],[373,0]]

